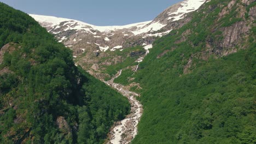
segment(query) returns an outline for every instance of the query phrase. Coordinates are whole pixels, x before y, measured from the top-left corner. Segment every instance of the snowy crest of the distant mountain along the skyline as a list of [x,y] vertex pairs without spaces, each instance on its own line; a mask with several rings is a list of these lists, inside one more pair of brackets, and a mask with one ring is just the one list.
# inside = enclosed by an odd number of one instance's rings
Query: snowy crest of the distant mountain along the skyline
[[[124,26],[95,26],[82,21],[65,19],[65,18],[54,17],[54,16],[43,16],[43,15],[33,15],[33,14],[30,14],[30,16],[32,16],[36,21],[38,21],[43,27],[48,29],[48,32],[53,33],[55,35],[58,33],[61,33],[62,31],[68,31],[68,30],[74,29],[76,31],[84,30],[86,33],[94,34],[97,38],[97,37],[100,37],[100,36],[97,36],[97,34],[100,34],[100,33],[102,33],[100,35],[107,35],[107,34],[111,34],[113,31],[123,30],[122,31],[123,37],[126,37],[126,36],[131,37],[131,35],[141,35],[143,33],[152,34],[152,32],[159,31],[160,29],[165,27],[167,23],[182,19],[185,14],[190,13],[191,11],[197,10],[205,2],[206,2],[205,0],[185,0],[183,2],[174,4],[171,7],[167,8],[161,14],[156,16],[156,18],[152,21],[131,23],[129,25],[124,25]],[[72,24],[72,25],[68,26],[65,29],[62,29],[61,31],[57,30],[61,26],[67,26],[69,24]],[[170,31],[170,30],[171,29],[168,29],[167,31]],[[162,36],[162,35],[159,35],[159,36]],[[56,37],[56,38],[60,40],[66,40],[64,38],[61,39],[61,37],[59,38]]]

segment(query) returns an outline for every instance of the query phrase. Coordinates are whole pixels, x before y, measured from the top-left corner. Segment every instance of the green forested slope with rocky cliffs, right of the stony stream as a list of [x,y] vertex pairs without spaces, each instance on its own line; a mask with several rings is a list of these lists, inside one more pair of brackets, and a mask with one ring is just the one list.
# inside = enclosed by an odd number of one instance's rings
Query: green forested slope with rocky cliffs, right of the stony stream
[[135,75],[144,112],[132,143],[255,143],[254,1],[202,5],[155,41]]

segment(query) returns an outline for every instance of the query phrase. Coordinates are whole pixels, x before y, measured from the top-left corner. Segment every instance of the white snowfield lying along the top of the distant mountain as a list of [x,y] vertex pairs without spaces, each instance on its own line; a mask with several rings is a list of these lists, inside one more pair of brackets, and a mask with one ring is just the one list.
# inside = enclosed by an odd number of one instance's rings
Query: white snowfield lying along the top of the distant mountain
[[[166,17],[167,20],[170,21],[178,21],[184,18],[185,14],[190,13],[191,11],[195,11],[199,9],[199,7],[205,3],[206,0],[187,0],[182,2],[176,11],[169,12],[168,16]],[[146,21],[146,22],[138,22],[132,23],[130,25],[124,26],[95,26],[89,23],[85,23],[82,21],[72,20],[72,19],[65,19],[61,17],[55,16],[44,16],[44,15],[34,15],[30,14],[36,21],[41,23],[43,27],[51,27],[52,29],[49,32],[53,31],[52,33],[59,33],[56,32],[59,28],[65,27],[64,31],[75,29],[77,31],[82,30],[85,33],[94,34],[94,38],[100,38],[100,36],[96,35],[98,33],[105,33],[105,34],[113,34],[113,31],[118,31],[120,29],[125,29],[126,32],[131,32],[133,35],[141,35],[144,33],[149,33],[148,35],[143,35],[144,37],[162,37],[167,33],[157,33],[151,34],[152,32],[159,31],[166,24],[161,23],[160,21]],[[168,31],[167,31],[168,32]],[[123,32],[124,33],[124,32]],[[111,37],[111,35],[107,35]],[[129,34],[124,34],[124,36],[129,36]],[[109,41],[106,37],[104,40]]]

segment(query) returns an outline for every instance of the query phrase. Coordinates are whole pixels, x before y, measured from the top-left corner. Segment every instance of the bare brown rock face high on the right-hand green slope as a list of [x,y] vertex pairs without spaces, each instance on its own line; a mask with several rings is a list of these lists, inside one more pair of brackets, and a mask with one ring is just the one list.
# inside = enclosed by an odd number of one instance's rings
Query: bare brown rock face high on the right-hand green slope
[[[253,26],[255,26],[255,6],[248,9],[248,5],[252,4],[253,1],[241,1],[235,0],[230,1],[226,6],[223,7],[219,13],[219,19],[217,22],[222,23],[220,28],[214,26],[212,32],[218,31],[223,32],[220,37],[222,39],[209,41],[210,47],[216,47],[213,50],[218,56],[226,56],[230,53],[237,51],[237,47],[245,49],[248,42],[248,36]],[[230,17],[230,14],[235,14],[235,17]],[[247,16],[246,16],[247,15]],[[229,19],[227,19],[229,18]],[[228,21],[228,22],[226,22]]]

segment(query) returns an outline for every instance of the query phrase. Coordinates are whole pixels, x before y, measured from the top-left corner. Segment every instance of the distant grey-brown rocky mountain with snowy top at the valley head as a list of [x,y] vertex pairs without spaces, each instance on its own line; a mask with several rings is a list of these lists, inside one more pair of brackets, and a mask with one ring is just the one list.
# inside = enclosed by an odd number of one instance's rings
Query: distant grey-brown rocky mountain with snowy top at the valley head
[[[30,16],[54,34],[59,42],[73,50],[76,64],[98,79],[108,80],[117,73],[117,69],[110,65],[123,65],[124,68],[133,63],[136,69],[137,59],[145,56],[155,39],[187,23],[190,19],[183,18],[203,3],[205,1],[187,0],[172,5],[152,21],[126,26],[100,27],[53,16]],[[123,51],[121,55],[120,51]],[[137,53],[136,56],[130,57],[132,52]],[[129,64],[122,64],[124,62]]]

